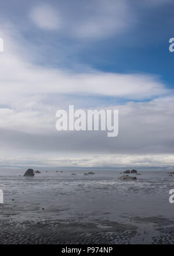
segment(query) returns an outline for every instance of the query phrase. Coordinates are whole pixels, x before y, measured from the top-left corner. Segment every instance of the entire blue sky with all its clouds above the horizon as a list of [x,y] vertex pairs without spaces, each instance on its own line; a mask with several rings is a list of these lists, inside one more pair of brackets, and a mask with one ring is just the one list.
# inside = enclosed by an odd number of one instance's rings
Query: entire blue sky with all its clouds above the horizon
[[[172,0],[6,0],[0,169],[173,168]],[[56,111],[118,109],[119,133],[57,131]]]

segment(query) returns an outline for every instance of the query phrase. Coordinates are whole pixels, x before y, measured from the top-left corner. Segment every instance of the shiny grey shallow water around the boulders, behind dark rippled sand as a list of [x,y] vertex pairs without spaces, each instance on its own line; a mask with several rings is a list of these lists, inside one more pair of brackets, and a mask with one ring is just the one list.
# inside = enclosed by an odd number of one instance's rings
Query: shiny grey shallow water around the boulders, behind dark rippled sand
[[[137,177],[135,181],[119,181],[120,171],[93,170],[95,175],[88,176],[84,172],[42,171],[33,178],[23,177],[23,172],[1,172],[1,220],[15,225],[38,223],[38,219],[42,224],[93,223],[97,233],[104,234],[113,232],[113,223],[117,222],[136,227],[129,243],[154,243],[155,239],[173,243],[174,204],[169,203],[169,190],[174,189],[174,176],[166,170],[142,170],[142,175],[132,175]],[[165,237],[171,234],[170,239],[162,240],[164,233]],[[111,242],[119,243],[119,239]]]

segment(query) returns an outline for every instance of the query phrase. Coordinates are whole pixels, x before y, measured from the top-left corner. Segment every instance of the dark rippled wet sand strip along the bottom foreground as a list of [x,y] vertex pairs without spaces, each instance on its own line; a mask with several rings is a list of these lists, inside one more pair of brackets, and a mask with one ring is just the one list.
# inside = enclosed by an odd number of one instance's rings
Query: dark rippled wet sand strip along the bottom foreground
[[[89,221],[1,221],[0,244],[173,244],[173,222],[164,218],[137,218],[132,224]],[[138,223],[150,224],[142,230]],[[155,232],[156,236],[154,236]]]

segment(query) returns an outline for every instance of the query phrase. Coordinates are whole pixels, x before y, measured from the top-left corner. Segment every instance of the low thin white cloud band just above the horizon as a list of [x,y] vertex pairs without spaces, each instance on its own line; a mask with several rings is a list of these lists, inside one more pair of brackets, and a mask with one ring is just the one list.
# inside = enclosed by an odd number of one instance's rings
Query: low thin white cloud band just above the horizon
[[[8,164],[7,164],[8,163]],[[35,157],[15,156],[0,158],[0,165],[8,168],[57,168],[59,167],[77,167],[77,168],[166,168],[173,169],[174,157],[169,154],[154,155],[82,155],[73,157],[49,157],[38,155]]]

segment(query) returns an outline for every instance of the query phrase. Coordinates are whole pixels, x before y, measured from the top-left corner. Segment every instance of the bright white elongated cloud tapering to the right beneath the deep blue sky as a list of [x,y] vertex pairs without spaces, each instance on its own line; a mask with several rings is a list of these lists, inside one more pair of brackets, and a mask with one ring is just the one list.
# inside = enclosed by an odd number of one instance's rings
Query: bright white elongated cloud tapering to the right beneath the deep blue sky
[[[0,58],[1,105],[13,105],[19,98],[26,98],[26,95],[31,97],[33,94],[89,94],[140,100],[169,92],[157,76],[149,74],[119,74],[97,70],[73,73],[38,66],[28,61],[26,55],[21,56],[23,47],[13,38],[6,34],[3,34],[3,38],[6,51]],[[28,52],[30,54],[30,49]]]

